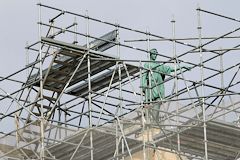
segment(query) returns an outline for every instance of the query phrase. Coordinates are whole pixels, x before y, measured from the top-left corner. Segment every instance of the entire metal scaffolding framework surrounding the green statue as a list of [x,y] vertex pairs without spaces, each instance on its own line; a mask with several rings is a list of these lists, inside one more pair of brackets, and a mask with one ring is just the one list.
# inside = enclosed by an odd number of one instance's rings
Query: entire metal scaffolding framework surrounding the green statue
[[[198,35],[176,38],[174,18],[163,37],[38,8],[39,39],[26,46],[26,66],[0,79],[0,159],[240,158],[238,19],[198,7]],[[203,14],[232,28],[204,37]],[[151,48],[175,72],[163,82],[166,97],[146,102],[140,79],[152,72],[144,68]]]

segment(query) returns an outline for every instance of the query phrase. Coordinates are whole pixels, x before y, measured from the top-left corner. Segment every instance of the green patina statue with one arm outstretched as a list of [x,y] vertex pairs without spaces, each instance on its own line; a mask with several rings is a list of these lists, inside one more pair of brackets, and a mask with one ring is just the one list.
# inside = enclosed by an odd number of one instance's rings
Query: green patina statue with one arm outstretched
[[[158,103],[153,104],[153,110],[151,112],[152,118],[156,121],[159,121],[159,110],[161,100],[165,98],[165,89],[164,89],[164,79],[166,75],[169,75],[171,72],[174,72],[173,67],[159,64],[155,62],[157,58],[158,51],[153,48],[150,50],[150,59],[152,62],[144,64],[144,71],[141,78],[141,86],[143,88],[143,93],[145,94],[145,102],[159,101]],[[189,67],[182,67],[189,70]],[[180,67],[177,67],[179,70]]]

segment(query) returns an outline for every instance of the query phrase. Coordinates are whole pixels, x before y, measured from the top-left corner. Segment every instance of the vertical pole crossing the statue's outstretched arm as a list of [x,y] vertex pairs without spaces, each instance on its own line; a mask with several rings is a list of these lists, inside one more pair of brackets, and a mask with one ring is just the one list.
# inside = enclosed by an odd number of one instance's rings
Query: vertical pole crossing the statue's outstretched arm
[[[176,21],[173,16],[172,20],[172,39],[173,39],[173,57],[174,57],[174,84],[175,84],[175,94],[178,95],[178,78],[177,78],[177,53],[176,53]],[[176,96],[176,99],[178,99],[178,96]],[[177,149],[178,152],[180,152],[180,135],[179,135],[179,105],[178,101],[176,101],[176,122],[177,122]]]

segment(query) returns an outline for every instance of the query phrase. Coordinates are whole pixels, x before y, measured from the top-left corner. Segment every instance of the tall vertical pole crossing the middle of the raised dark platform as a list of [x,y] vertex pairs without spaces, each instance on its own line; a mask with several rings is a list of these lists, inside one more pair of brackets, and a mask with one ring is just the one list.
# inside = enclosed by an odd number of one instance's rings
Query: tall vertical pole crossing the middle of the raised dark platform
[[88,49],[88,56],[87,56],[87,65],[88,65],[88,109],[89,109],[89,128],[90,128],[90,154],[91,154],[91,160],[93,160],[93,135],[92,135],[92,87],[91,87],[91,63],[90,63],[90,55],[89,55],[89,17],[88,17],[88,11],[86,11],[86,29],[87,29],[87,49]]

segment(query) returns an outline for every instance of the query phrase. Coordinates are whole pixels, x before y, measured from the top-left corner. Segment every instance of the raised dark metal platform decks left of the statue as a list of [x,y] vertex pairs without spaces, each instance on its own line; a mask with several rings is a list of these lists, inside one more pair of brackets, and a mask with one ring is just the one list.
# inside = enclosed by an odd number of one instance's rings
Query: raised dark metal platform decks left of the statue
[[[101,61],[101,59],[97,58],[108,58],[112,60],[117,60],[116,57],[106,55],[103,53],[103,51],[113,47],[115,44],[111,43],[116,40],[117,31],[114,30],[112,32],[109,32],[100,39],[103,40],[94,40],[90,42],[90,48],[89,55],[91,58],[91,76],[95,76],[91,80],[92,85],[92,91],[98,91],[106,86],[108,86],[112,74],[113,74],[113,67],[116,65],[115,61]],[[55,46],[59,47],[57,54],[61,55],[60,57],[56,57],[54,59],[54,63],[52,66],[50,66],[49,72],[47,69],[43,70],[43,77],[46,78],[46,82],[44,83],[43,88],[55,92],[61,92],[66,85],[68,79],[71,77],[74,69],[78,65],[79,61],[83,57],[83,55],[88,51],[86,48],[86,45],[79,46],[75,44],[65,43],[62,41],[45,38],[42,37],[42,42],[44,44],[47,44],[49,46]],[[138,67],[135,67],[130,64],[126,64],[127,72],[129,75],[133,75],[138,72]],[[127,72],[124,68],[122,68],[122,74],[121,78],[124,79],[127,77]],[[96,76],[97,75],[97,76]],[[86,82],[86,79],[88,78],[88,68],[87,68],[87,60],[83,60],[80,68],[77,70],[77,73],[71,80],[68,87],[71,87],[79,82],[81,84],[78,84],[74,88],[71,88],[71,90],[68,90],[68,94],[71,95],[78,95],[78,96],[86,96],[88,92],[88,84]],[[118,73],[115,74],[113,83],[118,81]],[[34,74],[31,76],[28,83],[32,83],[39,79],[39,74]],[[36,86],[39,86],[39,83],[35,83]]]

